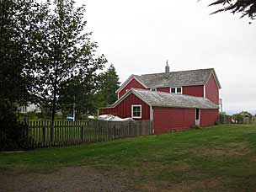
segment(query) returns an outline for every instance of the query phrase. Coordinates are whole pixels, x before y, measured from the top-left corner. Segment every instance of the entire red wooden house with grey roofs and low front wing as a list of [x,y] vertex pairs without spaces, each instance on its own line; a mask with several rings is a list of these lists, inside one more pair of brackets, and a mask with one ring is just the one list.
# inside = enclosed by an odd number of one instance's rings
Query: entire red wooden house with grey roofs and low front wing
[[219,115],[221,85],[213,68],[131,75],[116,91],[118,100],[100,115],[153,120],[154,133],[192,125],[214,125]]

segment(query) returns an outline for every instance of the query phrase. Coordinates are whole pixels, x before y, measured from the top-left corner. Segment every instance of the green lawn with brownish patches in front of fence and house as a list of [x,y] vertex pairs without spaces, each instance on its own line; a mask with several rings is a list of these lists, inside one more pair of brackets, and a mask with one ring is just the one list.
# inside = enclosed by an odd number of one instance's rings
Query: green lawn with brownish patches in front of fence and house
[[217,125],[75,147],[0,153],[2,175],[45,175],[77,166],[118,173],[141,191],[255,191],[256,125]]

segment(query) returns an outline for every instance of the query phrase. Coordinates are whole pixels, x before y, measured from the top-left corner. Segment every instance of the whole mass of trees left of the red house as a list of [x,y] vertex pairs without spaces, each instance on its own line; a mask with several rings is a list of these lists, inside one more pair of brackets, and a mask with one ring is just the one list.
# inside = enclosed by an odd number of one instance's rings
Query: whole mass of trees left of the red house
[[[115,101],[119,77],[86,31],[74,0],[0,0],[0,126],[19,127],[19,105],[91,115]],[[12,123],[10,123],[12,122]]]

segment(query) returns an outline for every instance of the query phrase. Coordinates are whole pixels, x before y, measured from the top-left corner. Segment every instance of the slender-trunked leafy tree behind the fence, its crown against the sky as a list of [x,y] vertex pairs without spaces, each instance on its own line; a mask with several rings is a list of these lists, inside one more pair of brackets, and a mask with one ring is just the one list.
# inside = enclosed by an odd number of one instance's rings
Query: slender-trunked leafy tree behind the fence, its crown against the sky
[[[74,0],[56,0],[48,4],[46,13],[37,33],[35,76],[40,79],[38,95],[45,104],[51,104],[53,130],[61,90],[85,81],[91,83],[90,77],[104,67],[106,59],[96,56],[97,44],[91,40],[91,33],[84,32],[84,6],[75,8]],[[86,87],[88,92],[92,86]],[[71,98],[72,93],[66,101],[73,104]]]

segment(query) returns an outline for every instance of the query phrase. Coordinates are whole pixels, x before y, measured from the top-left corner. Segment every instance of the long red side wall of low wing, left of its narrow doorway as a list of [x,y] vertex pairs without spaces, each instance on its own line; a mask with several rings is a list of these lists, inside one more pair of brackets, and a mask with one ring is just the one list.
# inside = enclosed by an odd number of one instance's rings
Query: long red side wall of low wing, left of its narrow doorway
[[155,133],[179,131],[195,125],[195,109],[154,108]]

